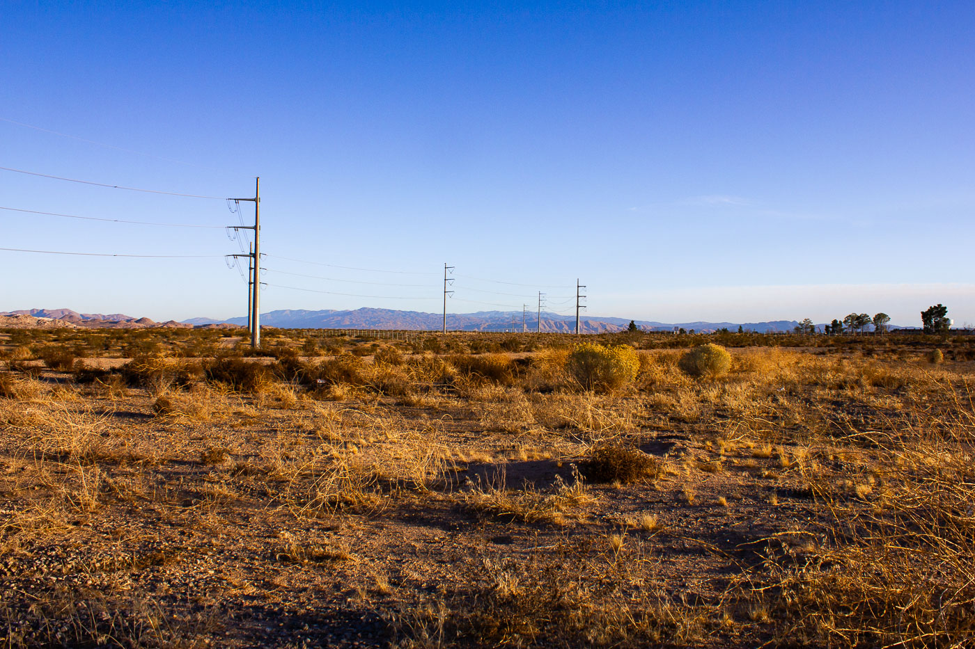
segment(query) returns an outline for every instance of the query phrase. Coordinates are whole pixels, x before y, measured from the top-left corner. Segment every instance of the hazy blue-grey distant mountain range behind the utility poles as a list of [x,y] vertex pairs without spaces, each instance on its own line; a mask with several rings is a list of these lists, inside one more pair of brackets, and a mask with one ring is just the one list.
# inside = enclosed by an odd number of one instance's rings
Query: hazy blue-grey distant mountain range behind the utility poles
[[[710,332],[727,327],[732,331],[738,329],[739,323],[658,323],[655,321],[637,320],[637,326],[648,331],[673,331],[675,327],[689,331]],[[230,318],[228,320],[214,320],[212,318],[192,318],[183,321],[187,325],[247,325],[247,318]],[[355,311],[302,311],[284,310],[271,311],[260,315],[261,325],[279,326],[282,328],[302,329],[427,329],[441,328],[444,323],[443,314],[423,313],[419,311],[394,311],[392,309],[356,309]],[[583,333],[597,333],[603,331],[621,331],[630,324],[629,318],[593,317],[579,319],[579,327]],[[750,331],[792,331],[798,325],[796,321],[780,320],[766,323],[740,323]],[[529,331],[540,328],[542,331],[568,332],[575,328],[574,316],[563,316],[557,313],[543,311],[539,327],[538,314],[528,314],[524,323]],[[476,313],[448,314],[447,327],[450,330],[461,331],[521,331],[523,326],[522,314],[515,313],[514,319],[510,311],[478,311]]]

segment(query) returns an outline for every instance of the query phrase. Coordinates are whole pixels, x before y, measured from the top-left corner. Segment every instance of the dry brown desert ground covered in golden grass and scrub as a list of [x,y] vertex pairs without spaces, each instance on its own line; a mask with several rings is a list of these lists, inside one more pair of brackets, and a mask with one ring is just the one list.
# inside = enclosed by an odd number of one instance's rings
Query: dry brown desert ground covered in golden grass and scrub
[[972,642],[969,338],[0,345],[3,646]]

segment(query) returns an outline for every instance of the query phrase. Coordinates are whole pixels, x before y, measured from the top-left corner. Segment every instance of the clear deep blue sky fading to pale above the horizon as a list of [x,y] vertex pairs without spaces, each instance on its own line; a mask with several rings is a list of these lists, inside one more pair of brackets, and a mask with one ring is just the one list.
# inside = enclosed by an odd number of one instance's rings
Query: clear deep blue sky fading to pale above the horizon
[[[216,197],[260,175],[266,282],[383,296],[270,286],[262,311],[438,312],[446,261],[469,276],[451,312],[578,277],[594,316],[917,325],[944,302],[975,323],[971,0],[210,4],[5,3],[0,118],[73,138],[0,121],[0,166]],[[13,172],[0,206],[237,218]],[[0,219],[6,248],[238,251],[219,229]],[[220,258],[0,263],[0,310],[245,310]]]

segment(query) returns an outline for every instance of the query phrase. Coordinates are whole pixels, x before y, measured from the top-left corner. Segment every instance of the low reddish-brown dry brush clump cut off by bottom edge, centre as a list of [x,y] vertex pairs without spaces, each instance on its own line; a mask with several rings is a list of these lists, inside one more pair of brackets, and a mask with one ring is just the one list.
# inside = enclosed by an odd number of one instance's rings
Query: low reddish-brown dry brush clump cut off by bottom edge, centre
[[697,646],[706,637],[712,611],[660,588],[622,587],[628,576],[619,567],[594,580],[605,563],[581,552],[556,562],[484,563],[481,574],[456,580],[463,586],[393,616],[404,638],[397,646]]

